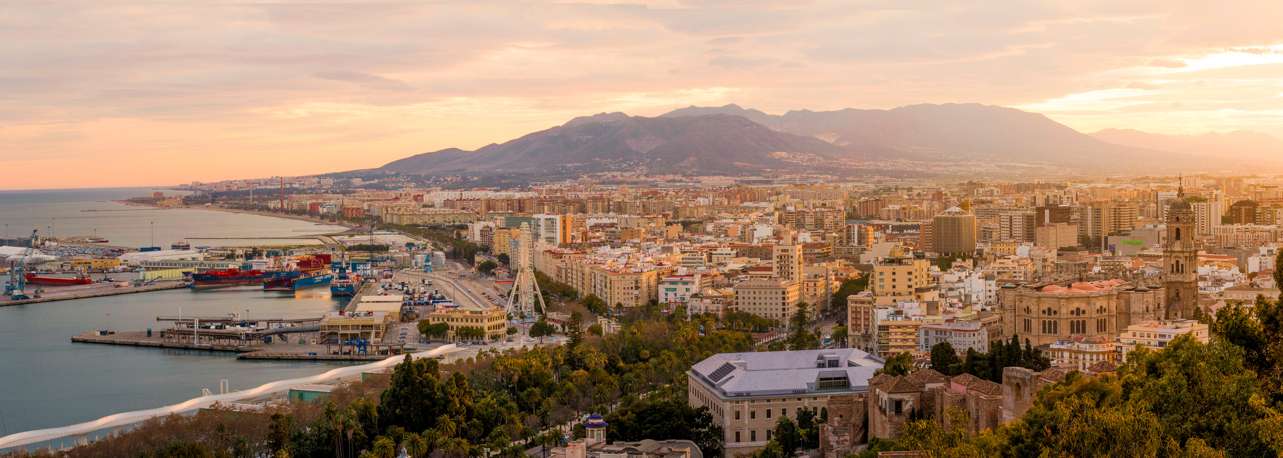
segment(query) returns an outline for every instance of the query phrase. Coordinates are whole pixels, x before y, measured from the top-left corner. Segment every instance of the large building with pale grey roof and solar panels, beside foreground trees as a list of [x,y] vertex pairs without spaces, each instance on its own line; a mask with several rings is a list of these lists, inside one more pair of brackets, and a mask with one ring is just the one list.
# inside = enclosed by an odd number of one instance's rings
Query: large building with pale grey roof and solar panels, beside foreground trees
[[722,449],[738,455],[774,439],[775,421],[799,409],[820,413],[831,396],[869,393],[884,359],[857,349],[721,353],[686,371],[686,400],[708,407],[725,432]]

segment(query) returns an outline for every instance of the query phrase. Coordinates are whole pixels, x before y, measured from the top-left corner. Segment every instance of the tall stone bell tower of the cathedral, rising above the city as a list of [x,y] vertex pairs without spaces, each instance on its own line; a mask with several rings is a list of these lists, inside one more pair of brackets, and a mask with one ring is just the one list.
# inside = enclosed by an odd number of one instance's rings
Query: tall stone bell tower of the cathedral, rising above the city
[[1164,318],[1192,318],[1198,307],[1198,246],[1194,244],[1194,210],[1184,187],[1168,207],[1168,237],[1162,241]]

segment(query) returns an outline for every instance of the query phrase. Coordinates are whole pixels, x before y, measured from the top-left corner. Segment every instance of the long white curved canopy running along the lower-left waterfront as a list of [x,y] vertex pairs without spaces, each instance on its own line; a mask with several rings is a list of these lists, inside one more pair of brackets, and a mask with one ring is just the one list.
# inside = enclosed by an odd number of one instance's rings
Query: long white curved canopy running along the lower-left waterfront
[[[448,352],[450,352],[453,349],[454,349],[454,344],[448,344],[448,345],[441,345],[441,346],[438,346],[438,348],[427,350],[427,352],[411,353],[409,355],[411,355],[411,358],[414,358],[414,359],[434,358],[434,357],[436,357],[439,354],[448,353]],[[389,367],[396,366],[402,360],[404,360],[404,355],[395,355],[395,357],[389,357],[387,359],[377,360],[377,362],[373,362],[373,363],[370,363],[370,364],[340,367],[340,368],[336,368],[334,371],[330,371],[330,372],[326,372],[326,373],[321,373],[321,375],[316,375],[316,376],[310,376],[310,377],[275,381],[275,382],[271,382],[271,384],[264,384],[264,385],[262,385],[259,387],[255,387],[255,389],[251,389],[251,390],[244,390],[244,391],[235,391],[235,393],[226,393],[226,394],[214,394],[214,395],[208,395],[208,396],[200,396],[200,398],[190,399],[187,402],[182,402],[182,403],[173,404],[173,405],[166,405],[166,407],[162,407],[162,408],[146,409],[146,411],[135,411],[135,412],[117,413],[117,414],[113,414],[113,416],[106,416],[106,417],[103,417],[103,418],[99,418],[99,420],[95,420],[95,421],[87,421],[87,422],[78,423],[78,425],[72,425],[72,426],[51,427],[51,428],[45,428],[45,430],[35,430],[35,431],[26,431],[26,432],[10,434],[8,436],[0,437],[0,449],[6,449],[6,448],[10,448],[10,446],[27,445],[27,444],[35,444],[35,443],[38,443],[38,441],[45,441],[45,440],[51,440],[51,439],[58,439],[58,437],[83,436],[83,435],[92,434],[94,431],[98,431],[98,430],[101,430],[101,428],[108,428],[108,427],[113,427],[113,426],[123,426],[123,425],[140,423],[140,422],[144,422],[144,421],[146,421],[149,418],[153,418],[153,417],[163,417],[163,416],[168,416],[168,414],[173,414],[173,413],[182,413],[182,412],[187,412],[187,411],[209,408],[209,407],[212,407],[214,404],[231,403],[232,400],[246,399],[246,398],[255,398],[258,395],[269,394],[269,393],[280,393],[280,391],[285,391],[285,390],[289,390],[291,387],[302,386],[302,385],[312,385],[312,384],[319,384],[319,382],[325,382],[325,381],[330,381],[330,380],[335,380],[335,378],[361,376],[362,372],[370,372],[370,371],[373,371],[373,369],[389,368]]]

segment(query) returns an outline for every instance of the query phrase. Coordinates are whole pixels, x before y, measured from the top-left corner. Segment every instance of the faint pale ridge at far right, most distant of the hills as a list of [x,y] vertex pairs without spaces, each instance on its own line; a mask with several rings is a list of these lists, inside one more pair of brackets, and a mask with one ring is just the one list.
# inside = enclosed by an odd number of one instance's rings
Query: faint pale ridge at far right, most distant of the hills
[[1103,128],[1089,135],[1111,144],[1164,151],[1210,157],[1248,155],[1275,160],[1283,159],[1283,140],[1275,139],[1269,133],[1252,131],[1233,131],[1229,133],[1206,132],[1194,136],[1153,133],[1134,128]]

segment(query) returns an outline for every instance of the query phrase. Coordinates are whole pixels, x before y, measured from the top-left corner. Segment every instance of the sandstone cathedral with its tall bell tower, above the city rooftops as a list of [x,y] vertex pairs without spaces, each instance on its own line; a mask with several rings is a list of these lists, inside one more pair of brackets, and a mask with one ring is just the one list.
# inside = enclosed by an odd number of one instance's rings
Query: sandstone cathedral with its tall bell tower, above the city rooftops
[[[1168,209],[1162,273],[1157,278],[1121,278],[1006,284],[998,289],[1003,339],[1012,334],[1034,345],[1070,335],[1119,337],[1146,321],[1191,318],[1198,304],[1198,248],[1194,212],[1184,192]],[[998,336],[989,336],[997,340]]]

